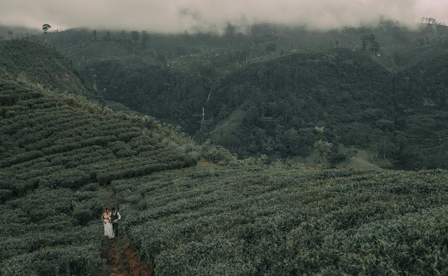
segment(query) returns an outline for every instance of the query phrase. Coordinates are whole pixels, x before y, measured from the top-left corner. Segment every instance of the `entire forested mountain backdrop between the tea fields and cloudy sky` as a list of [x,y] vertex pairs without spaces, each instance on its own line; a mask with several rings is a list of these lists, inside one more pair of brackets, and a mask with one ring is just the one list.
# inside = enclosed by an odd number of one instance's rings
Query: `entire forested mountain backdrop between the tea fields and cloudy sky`
[[[50,32],[48,43],[80,73],[31,76],[178,125],[240,156],[345,165],[359,149],[372,163],[446,168],[447,33],[391,21],[332,31],[259,24],[242,33],[229,25],[222,36],[71,29]],[[17,64],[29,58],[14,51],[51,51],[12,43],[22,48],[5,44],[3,52]]]

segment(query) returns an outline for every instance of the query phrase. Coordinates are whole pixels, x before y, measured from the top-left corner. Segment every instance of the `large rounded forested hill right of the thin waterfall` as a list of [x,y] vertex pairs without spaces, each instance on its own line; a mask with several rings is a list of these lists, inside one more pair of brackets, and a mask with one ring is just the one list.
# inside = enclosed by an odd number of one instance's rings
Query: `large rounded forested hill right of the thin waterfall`
[[[307,156],[324,139],[334,144],[334,163],[344,158],[341,148],[355,146],[368,149],[373,161],[446,168],[447,61],[441,55],[396,75],[368,56],[337,48],[248,65],[213,86],[205,103],[209,125],[197,135],[210,132],[214,142],[243,155]],[[235,110],[244,112],[240,125],[223,130]]]

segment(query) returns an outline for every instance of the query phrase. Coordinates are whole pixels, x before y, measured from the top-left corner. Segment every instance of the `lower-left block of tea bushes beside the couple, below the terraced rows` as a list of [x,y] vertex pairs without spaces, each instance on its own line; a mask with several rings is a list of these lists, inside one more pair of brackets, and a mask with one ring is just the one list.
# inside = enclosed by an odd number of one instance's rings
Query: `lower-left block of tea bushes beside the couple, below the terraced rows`
[[[0,205],[8,220],[0,225],[1,275],[102,274],[102,229],[92,223],[102,205],[98,193],[71,189],[39,189]],[[80,208],[85,227],[76,220]]]

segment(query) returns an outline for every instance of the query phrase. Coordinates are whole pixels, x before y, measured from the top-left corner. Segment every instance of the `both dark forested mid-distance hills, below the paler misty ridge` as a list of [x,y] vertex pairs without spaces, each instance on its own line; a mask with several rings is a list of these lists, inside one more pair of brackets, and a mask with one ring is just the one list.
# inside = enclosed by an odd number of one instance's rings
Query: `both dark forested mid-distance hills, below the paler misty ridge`
[[112,61],[83,74],[95,76],[90,82],[105,99],[242,155],[305,157],[324,139],[335,145],[333,163],[355,146],[371,159],[447,167],[446,62],[442,54],[390,72],[368,55],[334,48],[249,64],[215,81],[199,71]]

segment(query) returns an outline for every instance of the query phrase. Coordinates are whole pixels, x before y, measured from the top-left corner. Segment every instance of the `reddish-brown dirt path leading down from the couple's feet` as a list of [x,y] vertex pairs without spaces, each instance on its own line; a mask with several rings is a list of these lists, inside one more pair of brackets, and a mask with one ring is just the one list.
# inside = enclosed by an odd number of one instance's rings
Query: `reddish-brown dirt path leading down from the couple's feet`
[[109,241],[106,264],[109,276],[152,276],[154,272],[125,236]]

